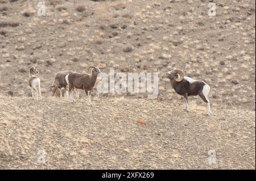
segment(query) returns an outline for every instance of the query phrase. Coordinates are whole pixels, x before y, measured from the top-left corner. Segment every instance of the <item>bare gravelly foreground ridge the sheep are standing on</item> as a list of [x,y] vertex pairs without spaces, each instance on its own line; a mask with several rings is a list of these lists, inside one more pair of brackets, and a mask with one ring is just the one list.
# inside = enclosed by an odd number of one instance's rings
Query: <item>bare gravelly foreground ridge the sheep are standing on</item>
[[159,100],[93,103],[1,98],[0,169],[255,169],[254,111],[207,116],[195,104],[187,113]]

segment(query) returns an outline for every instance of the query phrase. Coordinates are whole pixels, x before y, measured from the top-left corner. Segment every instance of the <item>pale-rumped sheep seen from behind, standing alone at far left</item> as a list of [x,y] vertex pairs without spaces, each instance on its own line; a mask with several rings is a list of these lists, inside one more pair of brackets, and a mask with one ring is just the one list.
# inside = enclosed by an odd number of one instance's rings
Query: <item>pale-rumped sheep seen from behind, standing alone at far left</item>
[[30,86],[30,89],[31,89],[32,99],[38,99],[38,95],[39,95],[40,100],[42,101],[40,78],[37,77],[36,74],[38,74],[38,70],[36,70],[36,68],[32,66],[30,68],[30,74],[28,77],[28,85]]

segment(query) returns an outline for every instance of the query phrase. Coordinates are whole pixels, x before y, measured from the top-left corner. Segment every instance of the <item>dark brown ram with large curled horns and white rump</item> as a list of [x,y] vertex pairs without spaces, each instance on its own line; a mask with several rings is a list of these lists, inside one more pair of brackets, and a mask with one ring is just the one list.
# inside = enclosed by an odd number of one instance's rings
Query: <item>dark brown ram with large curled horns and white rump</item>
[[210,102],[208,99],[208,94],[210,91],[210,86],[203,81],[197,81],[190,77],[184,77],[184,73],[180,69],[172,69],[166,74],[166,78],[171,80],[171,86],[175,92],[179,95],[184,96],[186,110],[189,111],[188,96],[199,95],[201,99],[207,103],[207,115],[210,115]]

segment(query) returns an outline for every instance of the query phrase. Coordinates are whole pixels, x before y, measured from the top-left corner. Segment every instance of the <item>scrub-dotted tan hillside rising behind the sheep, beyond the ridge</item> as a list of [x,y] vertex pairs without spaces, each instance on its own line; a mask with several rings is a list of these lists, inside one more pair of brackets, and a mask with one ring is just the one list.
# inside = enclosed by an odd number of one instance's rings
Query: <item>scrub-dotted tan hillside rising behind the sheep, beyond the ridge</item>
[[30,96],[31,65],[44,97],[57,71],[96,65],[106,73],[158,72],[159,98],[181,102],[163,76],[175,66],[209,83],[213,107],[254,110],[255,1],[49,0],[38,16],[40,2],[0,0],[0,94]]

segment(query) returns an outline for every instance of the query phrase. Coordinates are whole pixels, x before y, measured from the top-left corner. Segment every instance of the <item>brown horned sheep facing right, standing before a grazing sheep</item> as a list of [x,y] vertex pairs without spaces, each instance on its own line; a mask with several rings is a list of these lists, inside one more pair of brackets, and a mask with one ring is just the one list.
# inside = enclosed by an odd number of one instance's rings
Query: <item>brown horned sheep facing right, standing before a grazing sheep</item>
[[90,92],[92,91],[95,82],[97,80],[98,74],[101,73],[100,69],[97,68],[96,66],[90,66],[88,70],[92,68],[92,71],[90,74],[84,73],[69,73],[66,75],[65,79],[68,83],[68,91],[67,91],[67,96],[69,98],[69,101],[73,103],[73,100],[71,98],[71,92],[76,88],[76,89],[82,89],[85,91],[85,94],[87,96],[87,103],[88,105],[92,105],[92,101],[90,100]]

